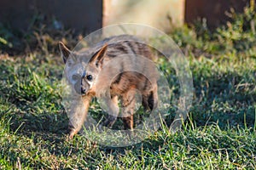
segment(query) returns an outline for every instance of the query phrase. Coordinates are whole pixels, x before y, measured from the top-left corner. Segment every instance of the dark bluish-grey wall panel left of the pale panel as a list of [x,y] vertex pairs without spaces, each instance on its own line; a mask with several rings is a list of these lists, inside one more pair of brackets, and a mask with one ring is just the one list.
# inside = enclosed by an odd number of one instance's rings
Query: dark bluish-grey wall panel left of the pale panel
[[37,14],[79,32],[102,27],[102,0],[1,0],[0,22],[27,30]]

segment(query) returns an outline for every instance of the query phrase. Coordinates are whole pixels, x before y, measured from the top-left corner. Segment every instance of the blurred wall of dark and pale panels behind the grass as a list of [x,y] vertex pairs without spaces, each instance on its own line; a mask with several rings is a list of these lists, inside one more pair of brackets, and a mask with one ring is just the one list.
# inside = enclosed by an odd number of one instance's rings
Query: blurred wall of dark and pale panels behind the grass
[[119,23],[142,23],[162,31],[205,18],[217,27],[229,20],[230,8],[242,12],[250,0],[2,0],[0,22],[24,31],[38,17],[52,20],[55,29],[89,33]]

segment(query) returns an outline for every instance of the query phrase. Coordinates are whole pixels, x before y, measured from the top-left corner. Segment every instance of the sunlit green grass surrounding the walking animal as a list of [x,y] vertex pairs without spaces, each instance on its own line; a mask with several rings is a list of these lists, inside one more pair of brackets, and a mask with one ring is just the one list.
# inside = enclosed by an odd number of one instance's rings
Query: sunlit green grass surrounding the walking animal
[[[255,19],[246,8],[214,31],[197,25],[172,31],[193,73],[189,118],[172,134],[172,116],[167,116],[158,132],[125,148],[98,145],[79,135],[66,141],[68,119],[60,91],[64,65],[55,42],[43,41],[42,50],[31,48],[26,54],[1,54],[0,169],[255,169]],[[8,52],[15,33],[1,29]]]

